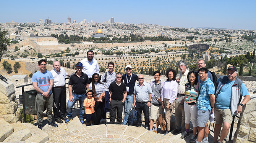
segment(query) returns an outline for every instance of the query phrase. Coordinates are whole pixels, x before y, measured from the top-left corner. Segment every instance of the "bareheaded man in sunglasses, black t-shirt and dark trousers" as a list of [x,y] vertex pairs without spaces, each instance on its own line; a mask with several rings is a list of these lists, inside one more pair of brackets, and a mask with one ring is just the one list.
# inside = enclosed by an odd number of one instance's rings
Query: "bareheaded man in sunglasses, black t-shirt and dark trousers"
[[122,73],[118,72],[115,76],[116,81],[110,83],[110,124],[115,123],[115,115],[117,113],[117,124],[122,122],[123,103],[126,99],[126,85],[121,81]]

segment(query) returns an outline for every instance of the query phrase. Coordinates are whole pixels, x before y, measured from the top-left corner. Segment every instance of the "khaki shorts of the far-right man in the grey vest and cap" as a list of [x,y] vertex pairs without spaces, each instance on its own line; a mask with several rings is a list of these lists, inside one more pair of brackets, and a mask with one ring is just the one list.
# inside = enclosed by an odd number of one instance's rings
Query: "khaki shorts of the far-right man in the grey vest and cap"
[[214,117],[216,124],[222,124],[223,122],[232,124],[233,117],[230,109],[218,109],[214,107]]

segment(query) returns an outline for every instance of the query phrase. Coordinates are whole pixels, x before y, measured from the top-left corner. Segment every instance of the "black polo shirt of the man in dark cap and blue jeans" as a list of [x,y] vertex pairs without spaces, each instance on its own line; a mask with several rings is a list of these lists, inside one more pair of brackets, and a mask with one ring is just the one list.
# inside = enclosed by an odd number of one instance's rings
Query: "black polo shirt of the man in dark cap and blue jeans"
[[72,85],[72,92],[75,94],[85,94],[86,84],[89,84],[89,78],[86,73],[82,72],[82,75],[78,77],[76,72],[70,76],[68,85]]

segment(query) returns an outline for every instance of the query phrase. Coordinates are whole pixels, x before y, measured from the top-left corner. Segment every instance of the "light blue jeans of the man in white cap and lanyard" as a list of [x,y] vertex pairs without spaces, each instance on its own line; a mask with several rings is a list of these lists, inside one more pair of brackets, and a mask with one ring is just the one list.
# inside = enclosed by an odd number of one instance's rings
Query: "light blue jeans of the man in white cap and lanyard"
[[133,105],[133,94],[127,95],[125,99],[125,117],[123,118],[123,125],[127,125],[128,117]]

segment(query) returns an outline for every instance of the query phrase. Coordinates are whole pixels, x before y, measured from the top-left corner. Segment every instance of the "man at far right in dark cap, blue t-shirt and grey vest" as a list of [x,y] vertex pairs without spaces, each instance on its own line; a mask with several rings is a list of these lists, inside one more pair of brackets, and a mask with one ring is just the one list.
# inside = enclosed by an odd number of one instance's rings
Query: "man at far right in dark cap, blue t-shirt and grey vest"
[[[214,143],[222,143],[227,137],[232,116],[243,112],[243,106],[250,100],[249,92],[240,79],[237,78],[237,68],[229,66],[227,75],[221,76],[217,80],[217,91],[215,94],[214,116]],[[241,96],[244,97],[241,102]],[[241,102],[241,103],[240,103]],[[221,125],[223,129],[220,132]],[[220,134],[220,139],[218,140]]]

